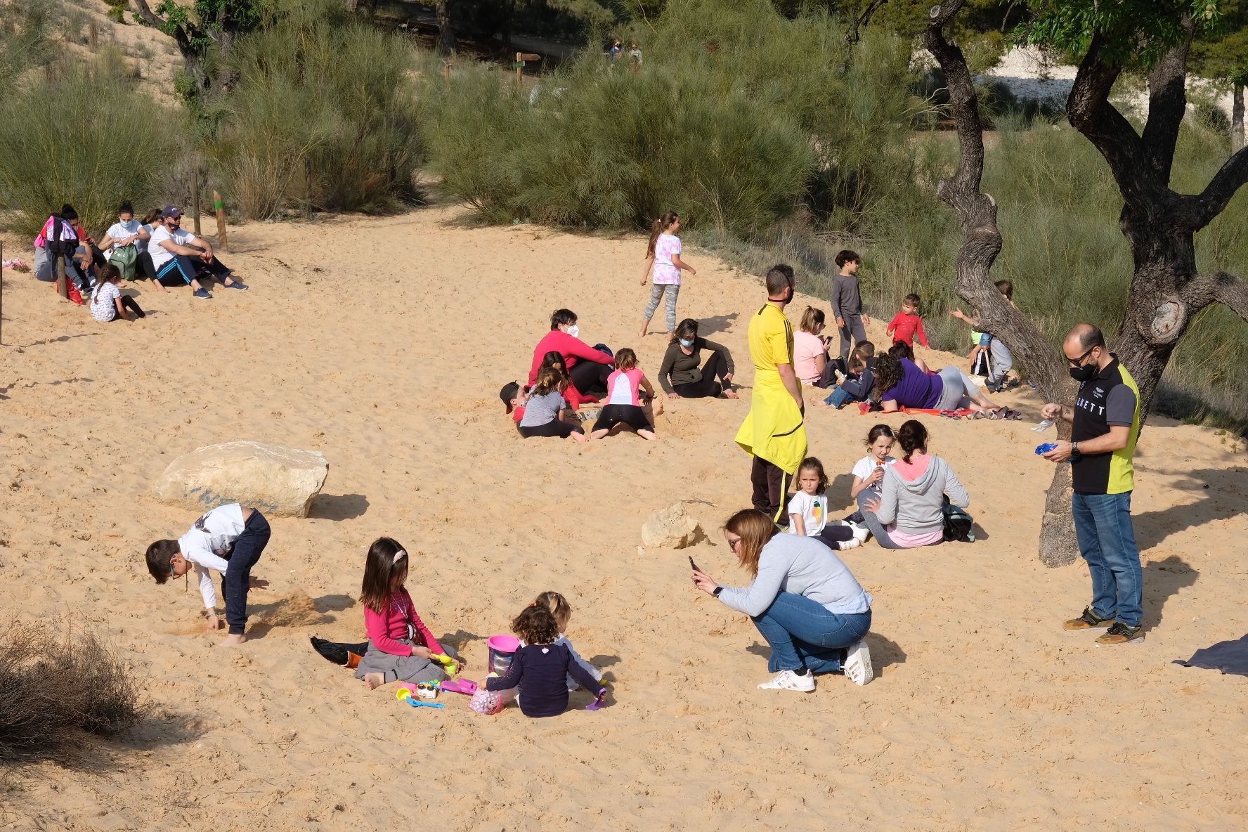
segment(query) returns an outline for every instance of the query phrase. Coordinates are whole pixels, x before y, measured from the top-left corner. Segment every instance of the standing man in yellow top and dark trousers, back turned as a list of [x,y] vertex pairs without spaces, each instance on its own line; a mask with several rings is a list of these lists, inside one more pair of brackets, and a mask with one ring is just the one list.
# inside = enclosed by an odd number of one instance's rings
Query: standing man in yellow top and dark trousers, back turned
[[754,457],[750,470],[754,508],[786,525],[785,495],[806,455],[801,382],[792,367],[792,324],[784,314],[792,301],[792,268],[775,266],[768,272],[766,283],[768,302],[750,318],[754,395],[750,413],[736,432],[736,444]]

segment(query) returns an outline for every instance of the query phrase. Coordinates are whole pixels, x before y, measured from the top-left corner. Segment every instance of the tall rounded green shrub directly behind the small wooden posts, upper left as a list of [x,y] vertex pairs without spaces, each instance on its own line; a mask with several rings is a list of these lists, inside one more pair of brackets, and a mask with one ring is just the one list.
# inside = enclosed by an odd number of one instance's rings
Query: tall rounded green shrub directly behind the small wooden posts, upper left
[[[310,7],[311,6],[311,7]],[[247,218],[381,213],[414,197],[416,56],[403,39],[292,4],[231,52],[237,80],[206,143]]]

